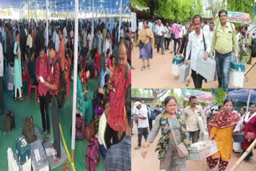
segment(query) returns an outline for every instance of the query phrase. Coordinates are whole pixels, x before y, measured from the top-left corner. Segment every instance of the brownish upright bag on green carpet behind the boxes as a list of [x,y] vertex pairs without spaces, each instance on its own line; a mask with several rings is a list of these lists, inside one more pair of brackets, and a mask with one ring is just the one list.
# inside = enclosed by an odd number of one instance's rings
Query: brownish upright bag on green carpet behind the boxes
[[29,143],[36,141],[36,136],[34,135],[34,121],[33,117],[26,117],[22,125],[22,135],[24,135],[29,141]]

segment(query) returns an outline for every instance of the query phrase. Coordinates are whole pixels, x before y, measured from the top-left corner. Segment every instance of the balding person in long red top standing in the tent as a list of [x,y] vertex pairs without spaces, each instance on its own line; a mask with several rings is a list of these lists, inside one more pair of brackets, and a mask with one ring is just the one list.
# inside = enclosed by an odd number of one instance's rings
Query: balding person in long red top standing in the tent
[[130,83],[131,70],[127,62],[126,45],[122,42],[118,46],[118,66],[115,67],[113,77],[111,78],[113,90],[110,94],[110,113],[105,131],[107,149],[121,141],[118,136],[120,128],[122,128],[122,131],[125,131],[126,89]]

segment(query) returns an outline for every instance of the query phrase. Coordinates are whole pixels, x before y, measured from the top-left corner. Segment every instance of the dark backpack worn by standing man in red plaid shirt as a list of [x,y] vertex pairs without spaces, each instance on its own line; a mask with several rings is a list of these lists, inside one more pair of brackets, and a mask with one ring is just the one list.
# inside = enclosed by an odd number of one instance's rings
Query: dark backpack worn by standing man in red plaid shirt
[[[58,63],[59,66],[61,66],[59,58],[55,62]],[[55,67],[54,67],[55,68]],[[66,95],[67,95],[67,90],[66,90],[66,76],[64,74],[64,71],[61,70],[61,75],[60,75],[60,89],[58,91],[57,95],[57,100],[58,100],[58,109],[62,109],[64,107],[65,101],[66,101]]]

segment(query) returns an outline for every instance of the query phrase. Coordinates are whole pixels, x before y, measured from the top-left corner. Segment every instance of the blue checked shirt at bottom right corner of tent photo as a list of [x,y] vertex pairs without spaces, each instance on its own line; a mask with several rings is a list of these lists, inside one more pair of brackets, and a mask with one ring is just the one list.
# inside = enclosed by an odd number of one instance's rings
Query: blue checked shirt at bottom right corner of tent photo
[[106,153],[104,171],[130,171],[131,137],[125,136],[121,142],[112,145]]

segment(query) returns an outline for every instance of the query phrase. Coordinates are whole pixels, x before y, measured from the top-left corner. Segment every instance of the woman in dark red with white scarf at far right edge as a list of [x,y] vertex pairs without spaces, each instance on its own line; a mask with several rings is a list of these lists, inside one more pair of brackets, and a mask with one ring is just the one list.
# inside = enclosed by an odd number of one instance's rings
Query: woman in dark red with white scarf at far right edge
[[[256,104],[250,105],[250,112],[246,113],[242,124],[242,132],[245,132],[244,141],[242,142],[242,153],[245,153],[246,149],[256,138]],[[253,152],[251,151],[244,161],[249,161],[252,155]]]

